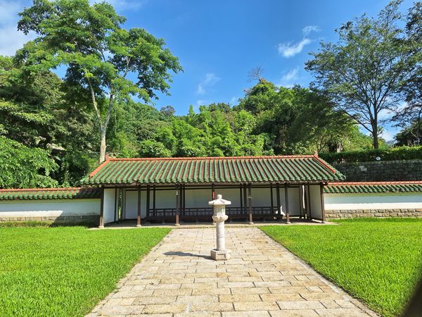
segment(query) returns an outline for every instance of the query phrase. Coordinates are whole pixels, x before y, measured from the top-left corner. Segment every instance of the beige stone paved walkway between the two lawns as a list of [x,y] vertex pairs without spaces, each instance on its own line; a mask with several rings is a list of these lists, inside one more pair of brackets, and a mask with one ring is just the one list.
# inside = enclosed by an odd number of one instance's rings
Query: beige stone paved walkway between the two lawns
[[226,247],[217,262],[215,230],[172,230],[87,317],[377,316],[257,228],[226,228]]

